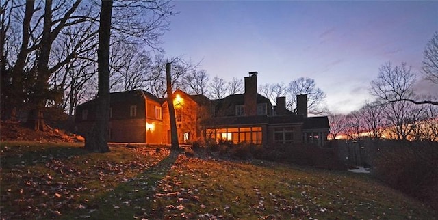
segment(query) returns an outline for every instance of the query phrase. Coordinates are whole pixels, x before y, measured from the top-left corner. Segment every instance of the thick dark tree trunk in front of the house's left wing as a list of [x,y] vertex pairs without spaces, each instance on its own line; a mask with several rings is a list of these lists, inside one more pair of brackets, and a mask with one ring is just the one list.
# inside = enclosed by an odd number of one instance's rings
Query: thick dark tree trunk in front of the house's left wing
[[102,0],[99,24],[99,90],[97,92],[96,122],[85,140],[85,148],[92,152],[109,152],[108,120],[110,118],[110,37],[112,1]]

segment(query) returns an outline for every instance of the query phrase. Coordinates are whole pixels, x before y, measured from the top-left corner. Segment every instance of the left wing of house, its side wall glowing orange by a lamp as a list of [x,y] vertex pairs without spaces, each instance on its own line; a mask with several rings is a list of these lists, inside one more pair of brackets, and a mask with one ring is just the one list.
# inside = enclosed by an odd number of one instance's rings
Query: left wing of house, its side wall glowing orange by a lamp
[[[96,100],[76,107],[75,126],[86,135],[96,117]],[[162,101],[144,90],[110,94],[108,141],[162,144]]]

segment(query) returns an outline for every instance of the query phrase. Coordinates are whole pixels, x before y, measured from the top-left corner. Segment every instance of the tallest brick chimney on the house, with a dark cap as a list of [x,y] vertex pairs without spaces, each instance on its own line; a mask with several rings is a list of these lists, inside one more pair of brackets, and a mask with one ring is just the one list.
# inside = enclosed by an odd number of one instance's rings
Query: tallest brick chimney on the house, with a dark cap
[[257,115],[257,72],[245,77],[245,115]]

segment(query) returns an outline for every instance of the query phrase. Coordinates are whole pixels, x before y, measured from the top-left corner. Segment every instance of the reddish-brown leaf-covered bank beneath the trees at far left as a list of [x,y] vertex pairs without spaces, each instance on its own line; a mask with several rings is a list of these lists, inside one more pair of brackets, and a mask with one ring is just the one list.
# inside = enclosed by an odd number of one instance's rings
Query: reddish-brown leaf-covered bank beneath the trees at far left
[[83,137],[64,133],[62,130],[35,131],[24,127],[19,122],[1,121],[1,141],[41,141],[41,142],[76,142],[83,141]]

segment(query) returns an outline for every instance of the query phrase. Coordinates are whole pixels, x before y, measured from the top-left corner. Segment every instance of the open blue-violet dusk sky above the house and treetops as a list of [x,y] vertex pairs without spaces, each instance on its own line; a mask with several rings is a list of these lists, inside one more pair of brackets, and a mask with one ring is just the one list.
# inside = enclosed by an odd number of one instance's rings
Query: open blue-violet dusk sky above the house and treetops
[[332,113],[373,100],[370,81],[388,61],[419,72],[438,31],[438,1],[175,1],[175,11],[162,38],[169,57],[201,61],[210,79],[310,77]]

